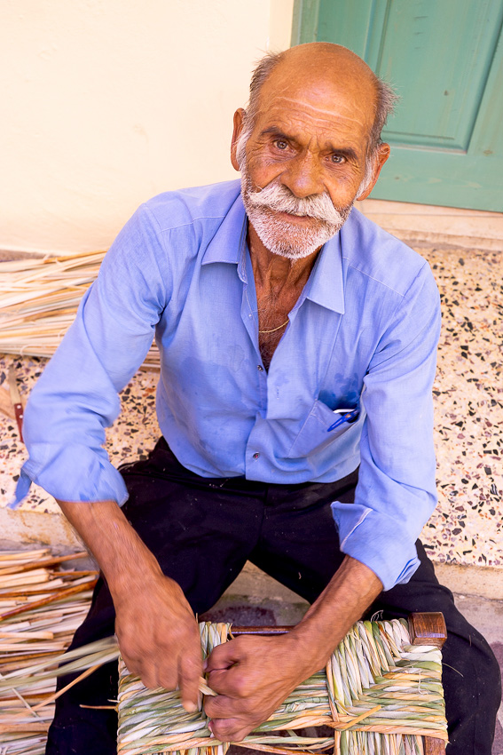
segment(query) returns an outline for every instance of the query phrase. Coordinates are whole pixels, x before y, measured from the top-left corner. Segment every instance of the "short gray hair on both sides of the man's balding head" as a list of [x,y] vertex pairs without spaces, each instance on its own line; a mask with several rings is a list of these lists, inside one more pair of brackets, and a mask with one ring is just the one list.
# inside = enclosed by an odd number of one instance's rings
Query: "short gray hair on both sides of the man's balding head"
[[[259,95],[263,84],[266,79],[271,76],[272,71],[279,65],[281,60],[283,60],[284,56],[284,52],[267,52],[262,60],[259,60],[258,65],[253,71],[250,82],[250,97],[243,123],[243,130],[248,133],[248,136],[251,134],[251,131],[253,131],[255,125],[255,119],[259,109]],[[367,150],[367,159],[370,158],[371,161],[373,161],[379,146],[382,144],[381,131],[399,99],[389,83],[383,81],[373,72],[372,75],[373,84],[375,86],[376,107]]]

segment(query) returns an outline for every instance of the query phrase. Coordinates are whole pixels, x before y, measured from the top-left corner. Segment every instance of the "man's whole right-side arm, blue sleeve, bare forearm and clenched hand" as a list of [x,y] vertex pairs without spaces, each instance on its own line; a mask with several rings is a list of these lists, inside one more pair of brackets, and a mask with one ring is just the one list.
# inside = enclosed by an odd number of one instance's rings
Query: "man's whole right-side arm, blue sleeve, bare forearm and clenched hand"
[[323,667],[381,590],[408,581],[417,568],[414,544],[436,503],[431,384],[439,325],[438,290],[423,266],[365,375],[355,503],[332,505],[346,558],[293,632],[243,637],[213,651],[209,683],[220,696],[205,707],[219,738],[242,739],[267,719]]

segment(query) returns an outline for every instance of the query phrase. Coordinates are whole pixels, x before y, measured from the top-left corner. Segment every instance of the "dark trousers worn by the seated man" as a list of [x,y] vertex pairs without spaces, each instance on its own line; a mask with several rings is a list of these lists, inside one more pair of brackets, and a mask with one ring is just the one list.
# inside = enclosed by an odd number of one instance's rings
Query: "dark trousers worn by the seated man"
[[[161,439],[146,461],[123,467],[122,474],[130,491],[124,513],[163,572],[180,584],[194,612],[211,608],[247,560],[312,602],[344,557],[330,504],[353,500],[358,473],[335,483],[301,485],[202,478],[178,464]],[[411,581],[382,592],[367,616],[376,611],[386,618],[442,611],[448,632],[443,654],[447,752],[491,755],[499,666],[482,635],[455,608],[452,593],[438,584],[420,541],[417,548],[420,568]],[[106,582],[99,579],[72,647],[110,634],[114,605]],[[71,679],[60,679],[59,687]],[[49,732],[48,755],[114,755],[115,712],[80,706],[109,705],[116,695],[116,663],[62,695]]]

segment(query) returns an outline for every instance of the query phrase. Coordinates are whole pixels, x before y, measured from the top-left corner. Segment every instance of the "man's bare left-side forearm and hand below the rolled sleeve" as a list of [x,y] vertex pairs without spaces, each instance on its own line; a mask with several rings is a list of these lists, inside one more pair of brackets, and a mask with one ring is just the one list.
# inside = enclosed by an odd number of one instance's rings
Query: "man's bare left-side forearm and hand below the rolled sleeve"
[[162,574],[114,501],[59,505],[106,577],[114,600],[115,632],[130,672],[146,687],[179,686],[185,710],[196,710],[200,632],[181,588]]

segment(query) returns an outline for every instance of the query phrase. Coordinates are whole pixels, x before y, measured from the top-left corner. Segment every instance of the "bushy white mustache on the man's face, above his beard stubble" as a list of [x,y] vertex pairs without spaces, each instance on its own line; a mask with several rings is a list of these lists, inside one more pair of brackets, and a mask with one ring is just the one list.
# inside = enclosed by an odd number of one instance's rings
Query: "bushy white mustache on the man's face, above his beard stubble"
[[298,197],[293,195],[287,187],[275,183],[268,184],[261,191],[249,192],[248,202],[255,207],[265,207],[277,212],[287,212],[290,215],[324,220],[333,226],[340,225],[347,217],[334,208],[327,192]]

